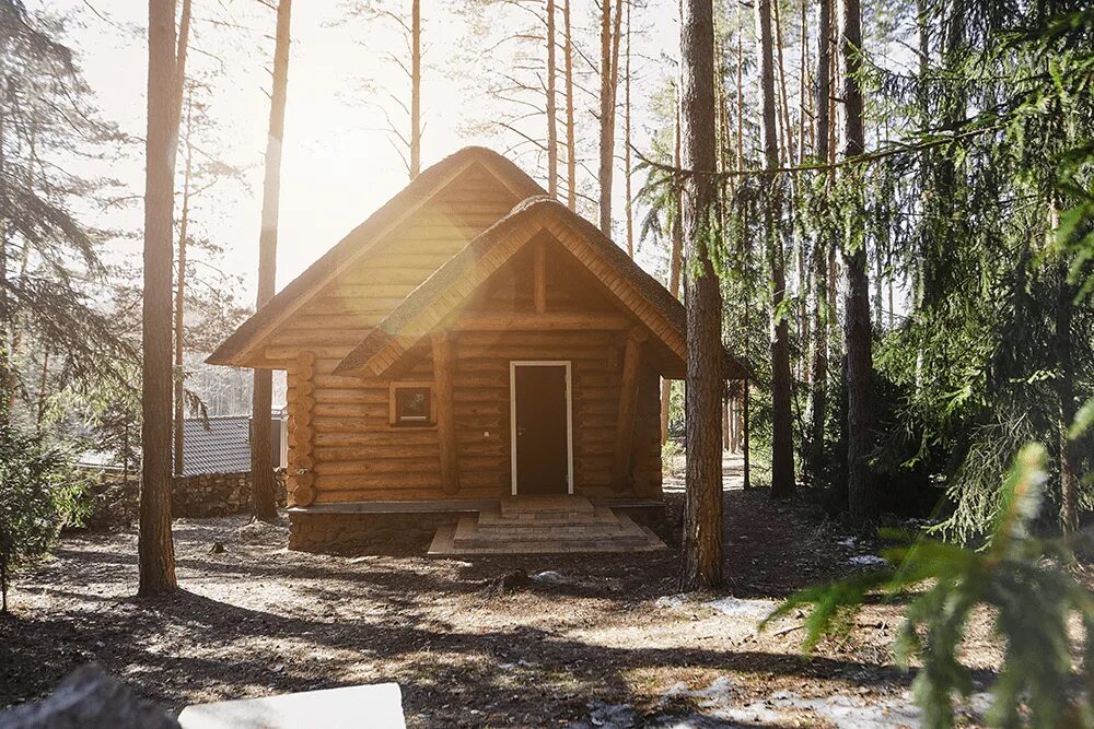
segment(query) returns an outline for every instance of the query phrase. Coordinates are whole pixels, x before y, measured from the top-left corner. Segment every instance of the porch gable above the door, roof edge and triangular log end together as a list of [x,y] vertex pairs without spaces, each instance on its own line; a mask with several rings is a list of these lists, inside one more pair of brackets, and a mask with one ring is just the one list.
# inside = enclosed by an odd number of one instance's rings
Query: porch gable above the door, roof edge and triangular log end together
[[[639,326],[652,334],[650,345],[661,372],[682,376],[686,344],[680,322],[650,304],[631,280],[620,275],[605,257],[604,245],[614,244],[593,245],[582,230],[559,215],[560,210],[565,209],[556,202],[525,201],[385,317],[338,371],[381,377],[396,374],[414,360],[423,338],[446,329],[587,331]],[[484,296],[493,296],[500,304],[498,296],[507,291],[505,282],[527,280],[519,272],[534,271],[536,266],[544,268],[538,278],[542,284],[535,283],[536,277],[532,277],[531,287],[508,284],[513,291],[508,308],[488,307],[487,317],[470,316],[482,308]],[[551,293],[558,306],[552,305],[549,311],[538,309],[536,299]],[[525,314],[533,316],[522,316]]]

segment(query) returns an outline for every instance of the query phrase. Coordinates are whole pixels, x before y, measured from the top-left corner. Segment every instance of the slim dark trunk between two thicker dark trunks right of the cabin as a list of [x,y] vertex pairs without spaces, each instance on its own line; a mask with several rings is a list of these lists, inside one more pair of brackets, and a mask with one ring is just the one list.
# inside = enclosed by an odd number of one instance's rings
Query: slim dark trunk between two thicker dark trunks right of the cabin
[[[817,38],[817,161],[830,162],[829,98],[831,97],[831,14],[833,0],[821,0],[821,27]],[[826,173],[831,180],[831,173]],[[824,469],[824,432],[828,414],[828,325],[833,314],[828,309],[828,251],[831,243],[826,231],[817,234],[813,250],[813,363],[810,376],[810,452],[806,472],[814,485],[821,482]]]

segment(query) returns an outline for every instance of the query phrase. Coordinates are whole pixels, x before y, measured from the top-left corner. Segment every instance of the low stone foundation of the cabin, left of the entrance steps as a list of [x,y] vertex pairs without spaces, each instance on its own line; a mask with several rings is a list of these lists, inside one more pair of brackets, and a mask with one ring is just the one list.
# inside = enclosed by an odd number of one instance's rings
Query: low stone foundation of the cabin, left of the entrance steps
[[338,514],[289,510],[289,549],[302,552],[341,552],[368,548],[372,552],[421,554],[445,524],[459,513]]

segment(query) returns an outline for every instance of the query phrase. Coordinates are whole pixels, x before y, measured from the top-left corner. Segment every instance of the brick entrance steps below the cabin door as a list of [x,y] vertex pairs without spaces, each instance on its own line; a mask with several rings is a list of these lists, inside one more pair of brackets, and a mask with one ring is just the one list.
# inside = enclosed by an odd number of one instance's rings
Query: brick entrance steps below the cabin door
[[650,529],[581,496],[520,497],[438,529],[429,554],[552,554],[666,549]]

